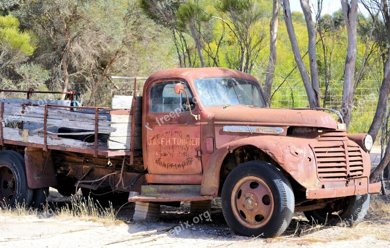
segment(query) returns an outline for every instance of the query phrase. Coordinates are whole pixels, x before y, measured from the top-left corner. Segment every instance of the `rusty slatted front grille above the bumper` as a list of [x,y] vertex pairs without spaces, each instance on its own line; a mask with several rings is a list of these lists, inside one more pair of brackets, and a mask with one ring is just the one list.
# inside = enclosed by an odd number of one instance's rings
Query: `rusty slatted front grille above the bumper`
[[311,145],[320,181],[347,180],[363,175],[363,157],[359,146],[351,144],[345,135],[340,134],[343,133],[322,134],[319,141]]

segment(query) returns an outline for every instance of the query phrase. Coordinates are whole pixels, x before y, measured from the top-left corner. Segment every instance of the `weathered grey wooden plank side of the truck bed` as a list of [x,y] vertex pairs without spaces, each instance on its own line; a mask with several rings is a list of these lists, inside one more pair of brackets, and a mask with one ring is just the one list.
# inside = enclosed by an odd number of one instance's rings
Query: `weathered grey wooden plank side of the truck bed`
[[[112,110],[105,107],[38,105],[23,99],[1,99],[0,145],[41,147],[44,151],[76,151],[95,157],[102,154],[130,155],[134,153],[132,148],[141,147],[142,137],[141,109],[135,109],[135,99],[130,101],[130,106],[132,109]],[[59,128],[67,129],[61,131]],[[86,142],[84,137],[93,138]],[[107,142],[104,141],[107,138]]]

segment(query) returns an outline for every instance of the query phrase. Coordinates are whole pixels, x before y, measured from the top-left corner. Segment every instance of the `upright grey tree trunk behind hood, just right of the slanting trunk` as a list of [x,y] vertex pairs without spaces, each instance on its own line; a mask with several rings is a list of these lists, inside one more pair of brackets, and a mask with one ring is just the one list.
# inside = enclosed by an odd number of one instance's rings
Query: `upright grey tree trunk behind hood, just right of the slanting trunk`
[[318,105],[320,103],[320,85],[318,81],[317,56],[315,55],[315,36],[316,31],[313,25],[312,11],[308,0],[301,0],[301,7],[306,20],[306,26],[309,34],[309,64],[310,75],[312,77],[312,88],[314,95],[317,98]]

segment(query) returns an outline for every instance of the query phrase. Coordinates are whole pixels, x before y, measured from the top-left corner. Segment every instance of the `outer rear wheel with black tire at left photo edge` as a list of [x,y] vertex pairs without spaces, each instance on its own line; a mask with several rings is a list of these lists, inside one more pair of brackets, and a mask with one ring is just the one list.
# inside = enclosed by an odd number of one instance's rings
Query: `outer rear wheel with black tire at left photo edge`
[[0,153],[0,202],[10,207],[30,206],[33,190],[27,185],[24,159],[15,151]]

